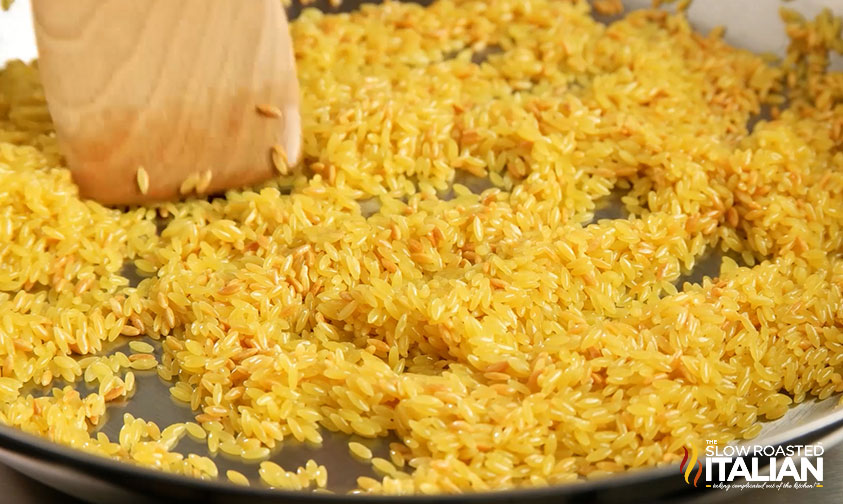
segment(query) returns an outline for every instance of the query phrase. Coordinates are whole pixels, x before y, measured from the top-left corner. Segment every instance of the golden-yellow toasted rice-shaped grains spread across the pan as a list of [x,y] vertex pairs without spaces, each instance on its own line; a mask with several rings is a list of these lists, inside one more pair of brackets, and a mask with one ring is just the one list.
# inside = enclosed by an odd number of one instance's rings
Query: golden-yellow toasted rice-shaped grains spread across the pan
[[[9,63],[0,422],[218,477],[175,451],[189,434],[259,467],[232,481],[292,489],[330,484],[319,460],[265,461],[282,440],[394,435],[371,461],[382,478],[358,480],[390,494],[558,484],[752,438],[843,390],[843,74],[826,71],[841,21],[783,15],[791,47],[773,62],[681,12],[605,26],[582,1],[309,10],[291,28],[304,163],[130,210],[78,198],[37,65]],[[446,198],[462,174],[493,187]],[[613,190],[629,217],[592,222]],[[715,249],[743,266],[676,285]],[[131,352],[104,355],[121,335]],[[96,433],[146,370],[196,422]],[[21,392],[58,379],[99,389]]]

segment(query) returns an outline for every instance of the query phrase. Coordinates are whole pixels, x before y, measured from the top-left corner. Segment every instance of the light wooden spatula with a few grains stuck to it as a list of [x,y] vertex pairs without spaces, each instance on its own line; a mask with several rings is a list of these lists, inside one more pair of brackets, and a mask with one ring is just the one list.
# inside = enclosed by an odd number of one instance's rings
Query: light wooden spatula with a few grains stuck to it
[[44,91],[84,197],[213,193],[298,160],[298,81],[279,0],[32,6]]

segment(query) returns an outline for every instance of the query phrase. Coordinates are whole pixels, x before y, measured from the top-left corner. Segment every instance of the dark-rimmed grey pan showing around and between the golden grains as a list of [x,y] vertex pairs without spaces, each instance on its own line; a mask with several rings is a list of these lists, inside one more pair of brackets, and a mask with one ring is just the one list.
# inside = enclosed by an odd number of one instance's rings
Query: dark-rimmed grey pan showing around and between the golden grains
[[[340,9],[331,8],[327,1],[314,6],[326,11],[352,10],[362,2],[346,0]],[[430,3],[430,0],[419,3]],[[649,0],[629,0],[630,8],[647,6]],[[30,29],[28,2],[18,0],[11,13],[0,16],[0,61],[11,58],[31,59],[35,45]],[[727,26],[727,39],[733,45],[753,51],[781,53],[786,47],[783,27],[778,19],[778,0],[732,2],[731,0],[698,0],[692,5],[689,17],[700,30],[717,25]],[[823,6],[843,13],[843,0],[796,0],[790,6],[808,15],[819,12]],[[299,14],[295,5],[291,17]],[[751,20],[752,22],[747,22]],[[600,19],[610,22],[611,19]],[[838,62],[839,63],[839,62]],[[751,125],[750,125],[751,127]],[[475,190],[485,188],[482,180],[460,180]],[[595,220],[625,218],[614,194],[600,202]],[[693,271],[679,280],[700,282],[704,276],[716,277],[721,257],[712,255],[700,261]],[[132,272],[127,271],[131,276]],[[114,349],[116,350],[116,348]],[[81,390],[84,391],[84,388]],[[33,389],[33,394],[44,393]],[[788,442],[815,442],[821,440],[828,448],[843,438],[843,408],[837,407],[837,398],[823,402],[807,402],[793,408],[783,418],[769,422],[755,440],[759,444],[784,444]],[[117,437],[123,413],[132,413],[159,425],[192,420],[188,408],[170,399],[168,384],[157,375],[138,376],[134,398],[109,410],[109,419],[102,430],[112,439]],[[355,486],[358,476],[374,476],[368,465],[355,461],[348,454],[344,435],[325,434],[321,447],[287,443],[273,454],[272,460],[284,467],[303,465],[310,458],[328,468],[330,486],[337,495],[286,493],[271,490],[254,482],[251,488],[237,487],[225,482],[192,480],[180,476],[137,468],[107,459],[89,456],[46,440],[34,438],[0,426],[0,461],[24,472],[45,484],[68,494],[98,503],[148,503],[148,502],[205,502],[205,503],[329,503],[329,502],[678,502],[716,500],[712,492],[697,493],[677,476],[674,466],[644,469],[617,475],[599,481],[582,482],[560,487],[535,490],[505,491],[491,494],[462,495],[453,497],[403,497],[378,498],[348,496],[344,493]],[[375,453],[384,454],[385,441],[358,439],[368,444]],[[207,453],[205,445],[185,438],[178,449],[183,452]],[[214,457],[221,472],[237,469],[245,474],[256,474],[256,465],[226,458]],[[0,501],[2,501],[0,496]]]

